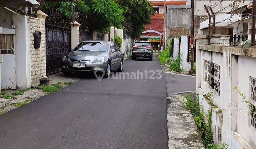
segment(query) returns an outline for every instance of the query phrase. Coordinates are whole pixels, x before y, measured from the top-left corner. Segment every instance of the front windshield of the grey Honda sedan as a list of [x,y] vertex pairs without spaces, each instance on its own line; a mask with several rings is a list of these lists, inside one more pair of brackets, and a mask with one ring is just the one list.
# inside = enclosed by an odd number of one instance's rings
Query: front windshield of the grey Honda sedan
[[74,51],[108,51],[107,42],[81,42]]

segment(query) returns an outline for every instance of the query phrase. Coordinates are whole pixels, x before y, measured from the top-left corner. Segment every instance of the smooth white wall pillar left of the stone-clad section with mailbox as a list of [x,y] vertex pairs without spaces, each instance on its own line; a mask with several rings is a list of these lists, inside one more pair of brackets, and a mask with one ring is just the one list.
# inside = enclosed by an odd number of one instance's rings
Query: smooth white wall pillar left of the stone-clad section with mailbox
[[31,87],[31,52],[29,17],[13,15],[16,26],[16,85],[19,88]]

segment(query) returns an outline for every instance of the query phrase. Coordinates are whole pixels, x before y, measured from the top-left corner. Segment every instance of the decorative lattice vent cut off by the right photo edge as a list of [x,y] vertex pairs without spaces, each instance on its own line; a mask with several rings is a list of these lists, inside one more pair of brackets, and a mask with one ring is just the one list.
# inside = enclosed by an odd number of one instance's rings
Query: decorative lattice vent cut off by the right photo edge
[[250,77],[250,98],[249,98],[249,107],[250,107],[250,124],[252,127],[256,128],[256,78]]

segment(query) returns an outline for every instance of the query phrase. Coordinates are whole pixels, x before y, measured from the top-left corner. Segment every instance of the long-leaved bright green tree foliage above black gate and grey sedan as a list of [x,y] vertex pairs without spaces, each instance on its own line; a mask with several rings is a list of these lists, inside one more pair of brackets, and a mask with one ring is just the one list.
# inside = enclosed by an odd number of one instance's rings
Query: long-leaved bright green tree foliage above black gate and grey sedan
[[[83,29],[106,32],[109,27],[122,27],[124,22],[123,9],[112,0],[74,0],[75,18]],[[72,21],[72,5],[70,2],[44,2],[41,9],[49,11],[57,9]]]

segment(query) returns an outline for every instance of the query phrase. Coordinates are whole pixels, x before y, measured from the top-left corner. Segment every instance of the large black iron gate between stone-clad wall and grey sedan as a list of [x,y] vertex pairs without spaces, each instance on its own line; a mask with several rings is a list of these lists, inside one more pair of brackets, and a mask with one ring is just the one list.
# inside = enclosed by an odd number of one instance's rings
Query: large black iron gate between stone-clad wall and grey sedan
[[62,57],[71,50],[71,28],[46,24],[46,74],[61,72]]

